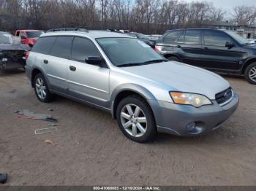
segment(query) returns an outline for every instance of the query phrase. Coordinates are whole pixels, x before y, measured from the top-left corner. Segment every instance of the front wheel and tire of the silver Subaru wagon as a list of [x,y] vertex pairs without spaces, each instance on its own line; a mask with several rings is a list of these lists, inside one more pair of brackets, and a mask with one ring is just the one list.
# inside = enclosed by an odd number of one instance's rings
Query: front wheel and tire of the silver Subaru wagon
[[151,141],[157,134],[154,114],[148,103],[138,95],[124,98],[116,109],[118,126],[132,141]]

